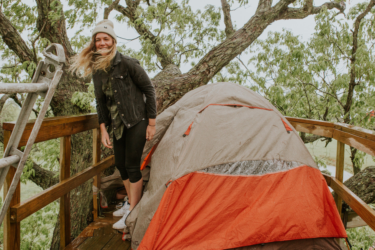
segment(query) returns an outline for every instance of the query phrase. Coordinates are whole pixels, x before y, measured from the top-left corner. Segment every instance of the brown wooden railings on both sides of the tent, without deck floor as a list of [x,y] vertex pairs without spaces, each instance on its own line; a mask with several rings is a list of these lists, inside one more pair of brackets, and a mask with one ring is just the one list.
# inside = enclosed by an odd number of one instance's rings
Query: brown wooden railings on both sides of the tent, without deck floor
[[[375,212],[365,202],[342,184],[344,173],[344,146],[345,144],[375,156],[375,132],[350,126],[344,123],[329,123],[326,121],[309,120],[287,117],[292,126],[300,132],[312,133],[334,138],[338,141],[336,176],[324,175],[328,186],[335,191],[335,202],[341,211],[341,199],[353,208],[354,211],[375,230]],[[4,148],[13,130],[14,122],[4,123]],[[26,145],[33,122],[29,122],[23,133],[19,147]],[[83,171],[70,176],[71,162],[71,135],[93,130],[93,165]],[[71,190],[94,178],[94,185],[100,188],[100,173],[114,164],[114,157],[100,160],[101,134],[96,114],[73,115],[65,117],[46,118],[40,127],[35,142],[60,138],[60,182],[33,197],[20,201],[20,185],[10,204],[10,209],[4,219],[4,249],[20,249],[20,222],[56,199],[60,198],[60,249],[70,243],[70,197]],[[11,168],[4,184],[6,195],[10,181],[13,178],[14,168]],[[94,195],[94,201],[96,201]],[[94,218],[98,215],[98,203],[94,202]]]

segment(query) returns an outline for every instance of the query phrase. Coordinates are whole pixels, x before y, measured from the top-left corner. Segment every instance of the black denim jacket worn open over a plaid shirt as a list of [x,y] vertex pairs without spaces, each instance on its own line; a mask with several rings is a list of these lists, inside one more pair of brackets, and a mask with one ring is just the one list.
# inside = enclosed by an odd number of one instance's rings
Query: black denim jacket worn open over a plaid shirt
[[150,78],[137,59],[117,51],[110,72],[100,70],[93,74],[99,124],[111,124],[107,108],[109,99],[102,90],[108,77],[111,78],[118,113],[126,127],[132,127],[143,118],[156,118],[155,89]]

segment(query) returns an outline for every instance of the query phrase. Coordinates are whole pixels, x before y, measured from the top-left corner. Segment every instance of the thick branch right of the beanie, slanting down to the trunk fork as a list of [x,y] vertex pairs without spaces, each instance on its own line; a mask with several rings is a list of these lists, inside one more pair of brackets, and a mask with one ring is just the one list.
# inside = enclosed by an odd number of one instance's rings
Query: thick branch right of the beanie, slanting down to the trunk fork
[[135,30],[138,32],[138,34],[151,41],[151,43],[155,46],[154,52],[157,57],[161,58],[160,63],[164,69],[169,64],[172,64],[171,55],[169,55],[168,52],[163,49],[163,45],[160,42],[159,37],[155,36],[150,30],[148,30],[143,22],[135,22],[135,20],[138,18],[136,14],[138,4],[139,1],[126,0],[127,7],[118,4],[115,9],[130,19],[130,22],[134,24]]

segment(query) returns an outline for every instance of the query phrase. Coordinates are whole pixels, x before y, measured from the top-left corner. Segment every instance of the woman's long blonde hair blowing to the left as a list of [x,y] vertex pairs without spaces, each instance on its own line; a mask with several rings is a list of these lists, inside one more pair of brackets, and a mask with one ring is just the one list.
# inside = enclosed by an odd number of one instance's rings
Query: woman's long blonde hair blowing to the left
[[[112,59],[116,55],[116,43],[111,37],[113,44],[109,46],[104,51],[96,51],[95,47],[95,37],[91,39],[89,45],[87,45],[80,53],[75,54],[73,57],[69,58],[71,64],[69,65],[69,71],[72,74],[75,72],[77,76],[86,77],[92,75],[98,70],[104,70],[105,72],[111,66]],[[107,53],[102,55],[101,53]]]

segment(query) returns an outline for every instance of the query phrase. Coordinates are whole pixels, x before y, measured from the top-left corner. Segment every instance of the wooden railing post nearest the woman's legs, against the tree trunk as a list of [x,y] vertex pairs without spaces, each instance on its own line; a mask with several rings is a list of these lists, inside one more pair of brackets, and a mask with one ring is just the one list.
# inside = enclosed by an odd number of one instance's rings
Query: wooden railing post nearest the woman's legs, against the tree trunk
[[[102,139],[101,139],[101,131],[100,131],[100,128],[99,129],[93,129],[93,164],[95,163],[98,163],[100,162],[100,158],[101,158],[101,144],[102,144]],[[100,177],[100,174],[94,176],[94,183],[93,185],[95,187],[97,187],[98,189],[100,189],[100,183],[101,183],[101,177]],[[98,194],[94,194],[93,195],[93,202],[94,202],[94,211],[93,211],[93,214],[94,214],[94,220],[96,220],[96,218],[98,217],[99,215],[99,202],[98,202],[98,197],[99,197],[99,193]]]

